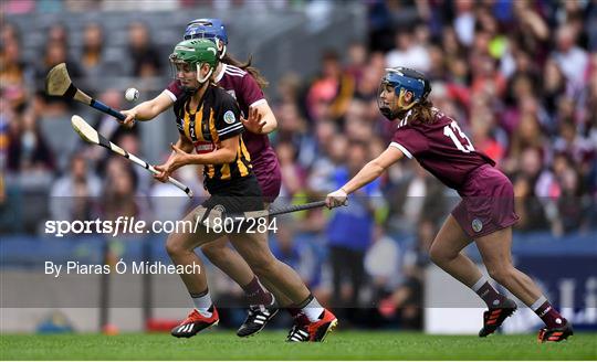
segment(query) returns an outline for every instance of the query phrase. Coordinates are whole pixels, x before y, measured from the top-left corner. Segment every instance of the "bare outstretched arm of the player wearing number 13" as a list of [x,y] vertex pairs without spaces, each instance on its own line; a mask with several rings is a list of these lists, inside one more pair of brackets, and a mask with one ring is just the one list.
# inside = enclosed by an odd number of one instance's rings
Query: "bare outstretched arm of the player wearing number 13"
[[327,194],[325,199],[327,207],[336,207],[346,204],[348,194],[357,191],[374,181],[386,171],[387,168],[398,162],[405,155],[396,147],[388,147],[375,160],[365,164],[358,173],[338,190]]

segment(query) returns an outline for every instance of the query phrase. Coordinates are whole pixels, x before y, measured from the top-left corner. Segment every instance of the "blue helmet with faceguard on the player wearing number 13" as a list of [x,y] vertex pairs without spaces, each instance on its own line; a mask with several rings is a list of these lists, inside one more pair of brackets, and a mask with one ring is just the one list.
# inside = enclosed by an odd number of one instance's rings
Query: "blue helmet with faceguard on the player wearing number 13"
[[[381,97],[383,92],[388,92],[388,87],[391,87],[395,94],[391,103]],[[407,92],[412,93],[412,102],[409,104],[405,103]],[[422,73],[405,67],[386,68],[377,93],[377,106],[385,117],[394,120],[416,104],[427,99],[430,92],[431,85]]]

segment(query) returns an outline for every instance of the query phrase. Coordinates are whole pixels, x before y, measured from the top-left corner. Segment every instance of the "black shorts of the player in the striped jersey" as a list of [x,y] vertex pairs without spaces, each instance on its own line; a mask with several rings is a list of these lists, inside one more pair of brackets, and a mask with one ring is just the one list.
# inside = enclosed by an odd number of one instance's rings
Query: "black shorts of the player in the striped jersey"
[[263,210],[263,195],[254,174],[233,181],[222,181],[208,188],[211,196],[201,206],[227,214]]

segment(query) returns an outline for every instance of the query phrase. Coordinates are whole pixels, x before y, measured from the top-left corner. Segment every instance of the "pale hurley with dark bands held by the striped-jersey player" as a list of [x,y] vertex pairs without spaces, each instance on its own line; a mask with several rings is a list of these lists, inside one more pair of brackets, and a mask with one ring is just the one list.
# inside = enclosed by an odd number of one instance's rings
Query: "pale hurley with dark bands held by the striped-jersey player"
[[[135,155],[128,153],[126,150],[119,148],[118,146],[108,141],[104,136],[100,135],[92,126],[90,126],[83,118],[80,116],[73,116],[71,118],[71,124],[73,125],[74,130],[83,138],[83,140],[90,142],[100,145],[102,147],[107,148],[108,150],[116,152],[121,156],[124,156],[125,158],[129,159],[130,161],[137,163],[138,166],[145,168],[149,172],[154,174],[158,174],[159,171],[157,171],[151,164],[145,162],[144,160],[139,159]],[[180,190],[185,191],[185,193],[192,198],[192,190],[190,190],[188,187],[182,184],[180,181],[168,177],[168,182],[174,184],[175,187],[179,188]]]

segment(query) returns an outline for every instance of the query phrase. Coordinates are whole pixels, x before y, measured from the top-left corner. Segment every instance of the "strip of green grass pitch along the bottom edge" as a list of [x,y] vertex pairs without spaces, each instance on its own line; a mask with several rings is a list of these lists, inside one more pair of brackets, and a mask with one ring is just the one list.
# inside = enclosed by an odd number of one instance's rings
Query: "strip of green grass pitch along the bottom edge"
[[540,344],[535,336],[427,336],[339,331],[324,343],[286,343],[284,332],[240,339],[213,331],[190,339],[163,333],[1,334],[1,360],[596,360],[597,333]]

